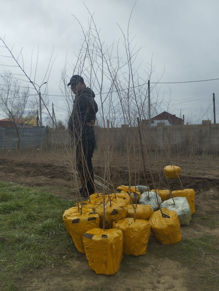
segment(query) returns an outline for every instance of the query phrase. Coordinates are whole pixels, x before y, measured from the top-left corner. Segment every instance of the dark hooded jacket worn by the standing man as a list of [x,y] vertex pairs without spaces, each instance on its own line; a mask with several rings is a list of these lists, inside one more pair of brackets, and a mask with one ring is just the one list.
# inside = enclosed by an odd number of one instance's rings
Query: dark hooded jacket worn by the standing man
[[95,94],[90,88],[75,95],[73,111],[68,121],[69,133],[75,140],[95,138],[94,128],[86,125],[91,120],[96,120],[98,107],[94,97]]

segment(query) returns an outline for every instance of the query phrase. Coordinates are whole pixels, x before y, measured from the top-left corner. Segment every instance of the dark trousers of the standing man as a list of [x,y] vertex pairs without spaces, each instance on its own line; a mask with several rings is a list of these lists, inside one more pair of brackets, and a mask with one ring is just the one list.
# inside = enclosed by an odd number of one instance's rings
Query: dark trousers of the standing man
[[78,141],[76,144],[76,168],[80,176],[81,186],[85,192],[93,194],[94,171],[92,157],[95,148],[95,138]]

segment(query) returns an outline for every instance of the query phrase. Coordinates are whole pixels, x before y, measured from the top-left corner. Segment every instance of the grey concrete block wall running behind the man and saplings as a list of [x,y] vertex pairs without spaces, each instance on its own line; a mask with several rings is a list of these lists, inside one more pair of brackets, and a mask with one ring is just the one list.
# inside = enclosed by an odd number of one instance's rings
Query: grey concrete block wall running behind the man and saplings
[[[209,121],[209,120],[206,120]],[[105,132],[104,132],[105,131]],[[57,130],[50,129],[47,134],[47,143],[53,146],[70,144],[70,136],[67,130],[60,131],[63,139]],[[107,142],[107,129],[95,127],[97,147],[105,146]],[[219,150],[219,124],[209,122],[197,125],[169,125],[143,127],[143,142],[148,148],[172,148],[173,151],[193,151]],[[127,139],[130,143],[139,144],[138,127],[117,127],[109,128],[109,141],[114,150],[125,150]]]

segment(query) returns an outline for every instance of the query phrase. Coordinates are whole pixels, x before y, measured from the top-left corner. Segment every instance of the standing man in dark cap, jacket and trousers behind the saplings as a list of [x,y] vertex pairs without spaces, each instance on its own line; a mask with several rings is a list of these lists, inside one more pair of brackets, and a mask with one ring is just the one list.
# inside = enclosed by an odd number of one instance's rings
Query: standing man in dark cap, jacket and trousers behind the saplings
[[96,144],[94,124],[98,111],[95,94],[87,88],[79,75],[73,75],[68,83],[75,94],[73,111],[68,121],[68,130],[76,146],[76,168],[81,180],[81,198],[88,198],[94,190],[92,156]]

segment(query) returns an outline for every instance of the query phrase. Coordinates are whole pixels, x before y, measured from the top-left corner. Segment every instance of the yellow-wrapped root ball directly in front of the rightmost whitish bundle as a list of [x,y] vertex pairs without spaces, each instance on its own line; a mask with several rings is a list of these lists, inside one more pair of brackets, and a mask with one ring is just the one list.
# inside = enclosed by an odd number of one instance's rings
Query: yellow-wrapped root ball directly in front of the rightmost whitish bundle
[[176,211],[162,209],[163,214],[170,218],[164,218],[161,211],[155,211],[149,218],[151,232],[161,244],[176,244],[181,240],[180,224]]

